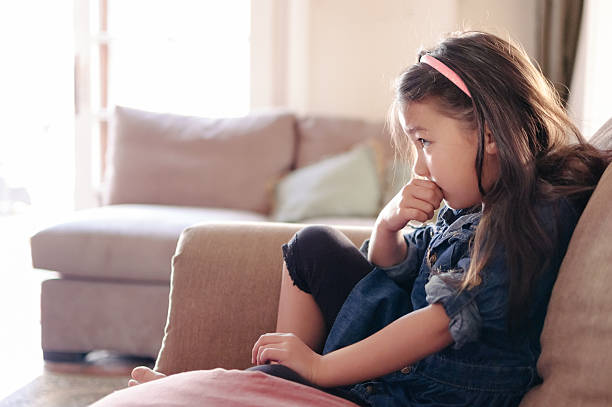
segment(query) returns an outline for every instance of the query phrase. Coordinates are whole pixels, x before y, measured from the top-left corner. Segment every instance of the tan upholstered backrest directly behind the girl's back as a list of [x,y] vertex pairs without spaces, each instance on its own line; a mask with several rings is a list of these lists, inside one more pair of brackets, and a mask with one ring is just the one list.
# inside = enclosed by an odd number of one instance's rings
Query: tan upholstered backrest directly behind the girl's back
[[612,403],[612,165],[587,204],[555,283],[541,343],[544,382],[521,406]]

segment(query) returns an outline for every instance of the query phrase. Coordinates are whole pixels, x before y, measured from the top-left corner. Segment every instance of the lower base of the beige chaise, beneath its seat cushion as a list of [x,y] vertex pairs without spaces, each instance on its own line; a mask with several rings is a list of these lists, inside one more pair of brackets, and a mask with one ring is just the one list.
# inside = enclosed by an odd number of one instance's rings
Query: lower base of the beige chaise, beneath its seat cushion
[[47,356],[49,352],[108,349],[155,358],[164,336],[169,292],[168,282],[44,280],[40,292],[42,349]]

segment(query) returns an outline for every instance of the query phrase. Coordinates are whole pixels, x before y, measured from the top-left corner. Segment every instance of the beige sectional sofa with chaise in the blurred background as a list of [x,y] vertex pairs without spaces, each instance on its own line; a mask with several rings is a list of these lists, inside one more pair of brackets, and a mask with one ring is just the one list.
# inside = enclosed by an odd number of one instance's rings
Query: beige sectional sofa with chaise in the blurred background
[[[370,226],[393,183],[382,123],[282,111],[213,120],[117,107],[112,128],[102,205],[31,238],[34,267],[58,273],[42,284],[46,359],[79,359],[97,349],[156,357],[171,258],[188,226],[273,220]],[[367,167],[358,161],[363,154],[346,155],[356,145],[368,147],[375,178],[347,178]],[[277,185],[292,174],[299,176],[284,184],[285,197],[296,187],[305,201],[316,196],[307,188],[328,193],[294,218],[301,202],[277,199]],[[347,180],[350,190],[343,191]]]

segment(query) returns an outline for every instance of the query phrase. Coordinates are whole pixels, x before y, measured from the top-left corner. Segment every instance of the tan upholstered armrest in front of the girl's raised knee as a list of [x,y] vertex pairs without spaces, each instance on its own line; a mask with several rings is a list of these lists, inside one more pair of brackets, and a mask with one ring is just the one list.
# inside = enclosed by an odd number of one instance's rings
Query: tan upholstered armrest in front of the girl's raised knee
[[[281,245],[303,224],[203,223],[183,231],[172,261],[170,306],[155,369],[165,374],[244,369],[259,335],[274,331]],[[357,246],[367,227],[339,227]]]

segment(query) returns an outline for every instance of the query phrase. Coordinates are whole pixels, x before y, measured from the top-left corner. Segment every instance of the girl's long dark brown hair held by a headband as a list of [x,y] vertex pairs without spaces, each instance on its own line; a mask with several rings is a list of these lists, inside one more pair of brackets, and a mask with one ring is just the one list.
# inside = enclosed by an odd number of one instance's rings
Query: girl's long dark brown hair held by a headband
[[[435,100],[443,113],[477,130],[475,168],[484,205],[463,288],[479,284],[480,271],[495,249],[503,247],[511,273],[508,307],[514,331],[526,322],[534,286],[554,249],[534,203],[567,196],[584,205],[611,152],[599,151],[584,140],[559,95],[520,46],[470,31],[420,51],[417,61],[425,53],[455,71],[472,98],[429,65],[417,62],[396,82],[389,112],[393,143],[402,158],[410,156],[411,143],[401,131],[398,114],[408,103],[425,99]],[[499,179],[487,191],[481,182],[485,125],[499,159]]]

